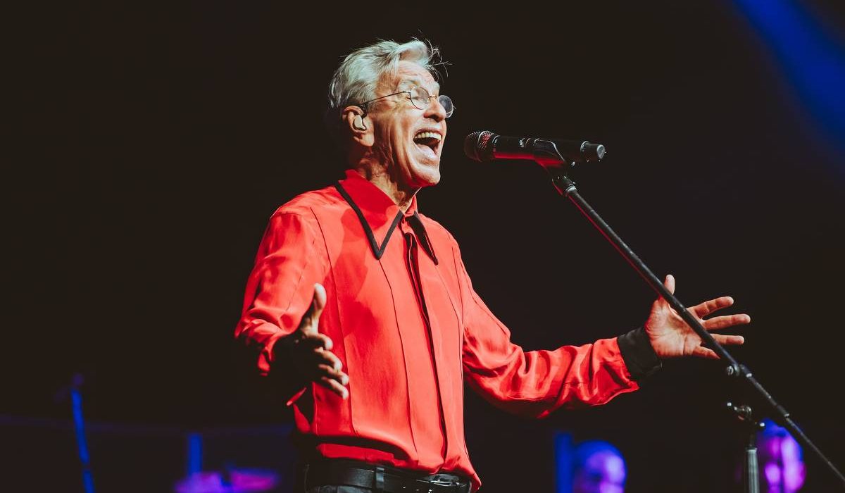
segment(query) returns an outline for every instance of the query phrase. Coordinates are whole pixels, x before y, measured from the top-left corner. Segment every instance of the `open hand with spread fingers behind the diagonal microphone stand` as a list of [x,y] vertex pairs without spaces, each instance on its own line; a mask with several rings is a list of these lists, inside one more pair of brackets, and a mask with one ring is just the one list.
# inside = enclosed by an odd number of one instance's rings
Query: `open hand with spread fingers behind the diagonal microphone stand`
[[[675,292],[675,278],[671,274],[666,277],[663,285],[666,286],[669,293]],[[732,304],[733,298],[722,296],[721,298],[696,304],[688,308],[687,311],[694,315],[707,331],[717,331],[749,323],[751,317],[745,314],[721,315],[709,319],[704,318]],[[651,314],[648,316],[648,320],[646,320],[646,334],[651,341],[651,347],[654,348],[654,352],[661,359],[677,358],[679,356],[697,356],[709,359],[719,358],[717,353],[711,348],[701,345],[701,337],[687,325],[684,319],[678,315],[678,312],[669,306],[668,302],[662,297],[658,298],[651,305]],[[745,342],[742,336],[726,336],[723,334],[712,334],[712,336],[716,339],[716,342],[723,346],[733,346]]]

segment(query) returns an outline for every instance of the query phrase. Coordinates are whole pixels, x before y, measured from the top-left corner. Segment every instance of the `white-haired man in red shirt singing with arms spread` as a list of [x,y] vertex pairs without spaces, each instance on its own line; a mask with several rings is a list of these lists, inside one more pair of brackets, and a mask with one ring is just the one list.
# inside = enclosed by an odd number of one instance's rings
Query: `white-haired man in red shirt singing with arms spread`
[[[510,342],[473,291],[455,238],[417,211],[417,191],[439,182],[455,110],[440,95],[436,54],[422,41],[379,41],[341,63],[329,98],[346,178],[275,211],[248,280],[236,336],[291,397],[308,491],[476,490],[464,381],[501,408],[541,417],[634,391],[661,359],[716,357],[660,299],[643,328],[620,337],[532,352]],[[703,318],[732,303],[691,310]]]

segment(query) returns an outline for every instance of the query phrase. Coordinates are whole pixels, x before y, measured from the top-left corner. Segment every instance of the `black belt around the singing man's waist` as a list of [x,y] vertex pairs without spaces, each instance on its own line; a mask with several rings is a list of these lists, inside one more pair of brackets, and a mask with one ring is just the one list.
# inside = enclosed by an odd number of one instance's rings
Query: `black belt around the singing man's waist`
[[346,485],[384,493],[469,493],[470,481],[455,474],[417,476],[402,469],[357,461],[324,461],[303,466],[305,488]]

